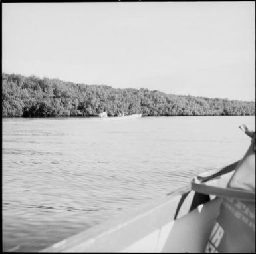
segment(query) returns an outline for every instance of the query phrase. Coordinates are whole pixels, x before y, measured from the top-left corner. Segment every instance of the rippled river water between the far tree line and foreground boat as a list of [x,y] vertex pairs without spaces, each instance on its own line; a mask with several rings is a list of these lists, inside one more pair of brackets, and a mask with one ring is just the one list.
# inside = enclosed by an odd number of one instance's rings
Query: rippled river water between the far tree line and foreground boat
[[3,251],[39,251],[241,158],[255,116],[3,119]]

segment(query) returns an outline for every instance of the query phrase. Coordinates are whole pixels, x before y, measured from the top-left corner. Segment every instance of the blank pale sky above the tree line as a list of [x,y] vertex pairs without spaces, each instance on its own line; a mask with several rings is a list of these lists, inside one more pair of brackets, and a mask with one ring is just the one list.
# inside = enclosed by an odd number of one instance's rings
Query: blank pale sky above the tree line
[[255,101],[255,2],[3,3],[3,72]]

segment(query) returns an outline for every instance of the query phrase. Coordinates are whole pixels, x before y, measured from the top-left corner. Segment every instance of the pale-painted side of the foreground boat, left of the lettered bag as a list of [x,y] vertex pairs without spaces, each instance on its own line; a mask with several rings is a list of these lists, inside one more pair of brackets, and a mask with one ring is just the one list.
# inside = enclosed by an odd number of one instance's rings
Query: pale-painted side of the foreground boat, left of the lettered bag
[[[42,252],[201,252],[217,216],[218,199],[188,213],[193,192],[174,221],[182,188],[150,205],[78,233]],[[188,213],[188,214],[187,214]]]

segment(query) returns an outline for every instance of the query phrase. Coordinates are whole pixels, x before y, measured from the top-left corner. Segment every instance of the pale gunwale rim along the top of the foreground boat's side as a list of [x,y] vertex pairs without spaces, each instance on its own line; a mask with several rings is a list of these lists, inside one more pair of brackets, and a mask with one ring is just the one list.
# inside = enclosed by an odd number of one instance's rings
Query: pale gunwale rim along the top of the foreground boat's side
[[[110,219],[104,223],[100,223],[98,225],[95,225],[94,227],[77,233],[76,235],[72,235],[66,239],[63,239],[62,241],[51,245],[50,247],[46,247],[39,252],[75,251],[74,249],[76,249],[76,247],[78,247],[79,245],[82,245],[83,248],[86,248],[86,246],[92,245],[92,243],[98,241],[98,239],[104,237],[105,235],[109,235],[114,231],[118,231],[118,229],[126,227],[127,225],[132,225],[134,221],[137,221],[142,217],[148,217],[150,216],[150,214],[154,213],[154,211],[162,209],[162,207],[164,207],[165,205],[170,206],[172,203],[174,203],[174,209],[172,209],[170,217],[161,221],[162,225],[165,225],[166,221],[172,221],[174,219],[174,214],[176,212],[178,202],[180,201],[182,194],[187,193],[188,191],[191,191],[190,185],[178,188],[174,191],[171,191],[170,193],[167,193],[164,197],[161,197],[160,199],[154,199],[153,201],[150,201],[150,203],[147,203],[146,205],[144,204],[137,209],[132,209],[132,211],[124,212],[120,214],[120,216],[117,218]],[[152,227],[151,231],[154,231],[155,229],[156,227]],[[121,247],[118,248],[120,251]]]

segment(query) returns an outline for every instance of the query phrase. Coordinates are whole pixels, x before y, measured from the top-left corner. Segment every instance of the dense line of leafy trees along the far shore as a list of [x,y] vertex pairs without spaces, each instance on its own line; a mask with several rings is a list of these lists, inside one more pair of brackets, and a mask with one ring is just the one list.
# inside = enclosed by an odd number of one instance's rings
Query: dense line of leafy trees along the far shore
[[57,79],[2,74],[2,116],[238,116],[255,115],[255,102],[176,96],[145,88],[116,89]]

